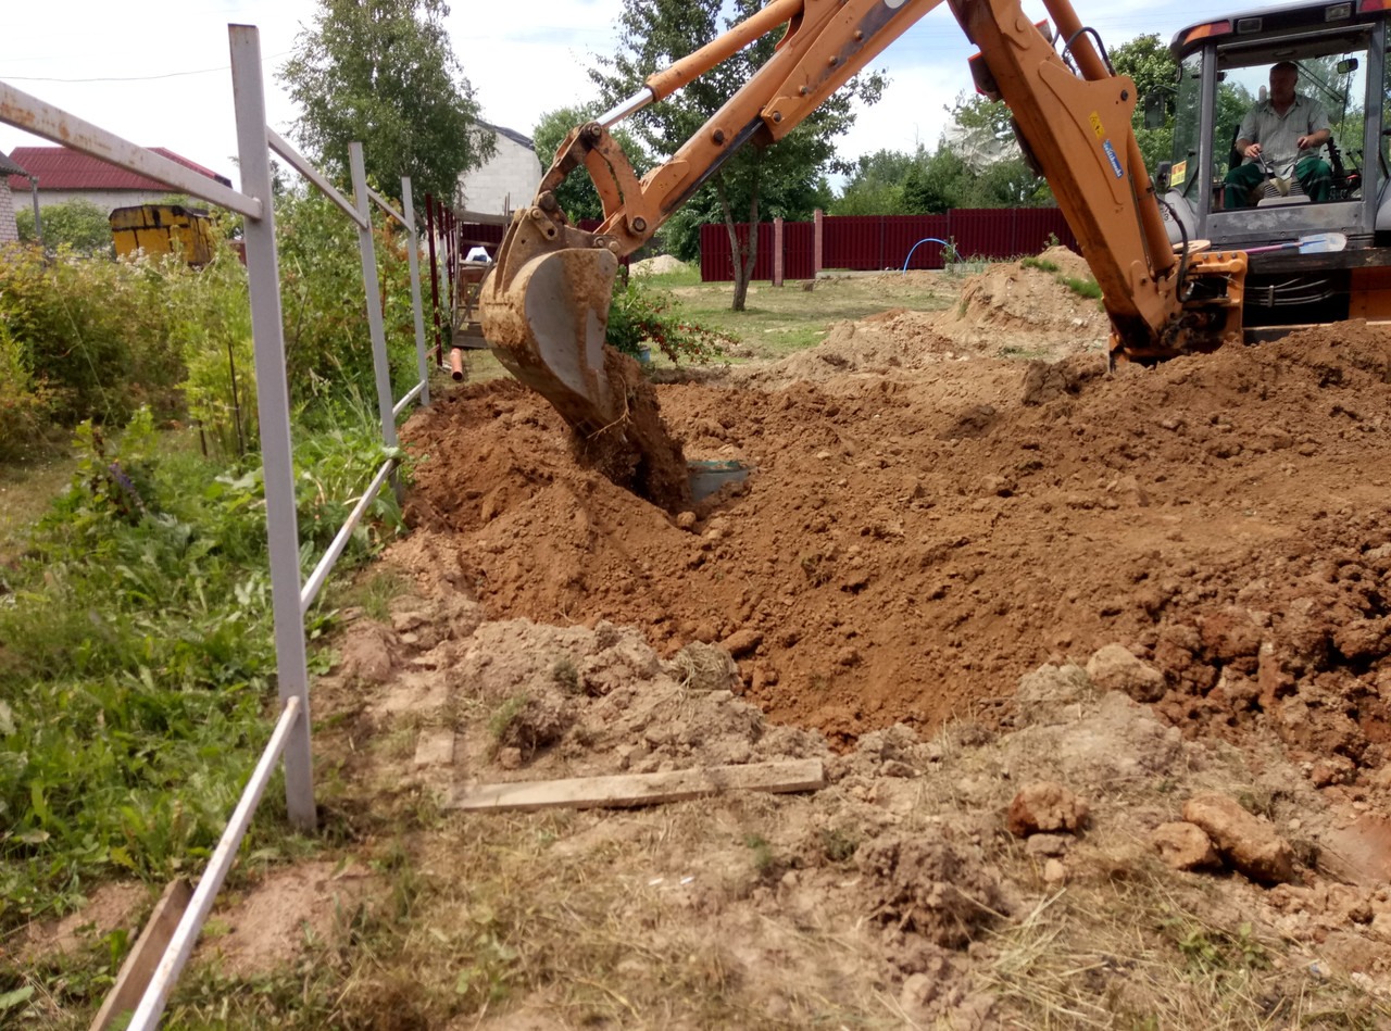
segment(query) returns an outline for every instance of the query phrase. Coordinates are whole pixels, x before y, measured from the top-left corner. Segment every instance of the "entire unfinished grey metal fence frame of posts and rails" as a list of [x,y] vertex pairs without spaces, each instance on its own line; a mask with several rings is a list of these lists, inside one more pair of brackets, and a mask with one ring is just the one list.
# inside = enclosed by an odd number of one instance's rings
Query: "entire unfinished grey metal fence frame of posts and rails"
[[[168,992],[178,981],[193,943],[207,920],[223,881],[236,858],[252,815],[275,769],[285,762],[285,804],[289,822],[299,831],[313,831],[317,822],[310,753],[309,669],[305,648],[305,615],[319,594],[334,564],[342,555],[353,527],[366,513],[377,491],[396,467],[387,459],[359,498],[328,551],[300,583],[299,526],[295,512],[295,466],[289,429],[289,387],[285,371],[284,321],[280,296],[280,255],[275,246],[275,211],[271,193],[270,154],[274,152],[307,178],[357,225],[362,256],[363,292],[371,334],[373,365],[377,381],[377,406],[381,416],[383,442],[396,447],[396,416],[412,401],[430,403],[428,363],[420,303],[420,266],[416,218],[410,179],[402,178],[402,207],[394,209],[367,186],[363,173],[362,143],[349,146],[349,164],[355,202],[344,198],[313,164],[266,124],[264,72],[262,70],[260,33],[255,25],[228,25],[232,90],[235,95],[236,143],[242,189],[223,186],[185,166],[136,146],[38,97],[0,82],[0,121],[61,143],[74,150],[100,157],[111,164],[157,179],[171,189],[202,198],[245,217],[248,292],[252,309],[252,335],[256,355],[256,395],[262,440],[262,466],[266,495],[266,537],[270,552],[271,600],[275,618],[275,669],[281,712],[250,779],[242,792],[227,829],[207,863],[203,877],[184,911],[177,929],[160,959],[150,984],[128,1025],[128,1031],[149,1031],[159,1024]],[[377,281],[377,257],[371,238],[371,203],[401,223],[408,232],[410,302],[413,306],[416,358],[420,380],[399,401],[391,392],[387,342],[381,317],[381,294]]]

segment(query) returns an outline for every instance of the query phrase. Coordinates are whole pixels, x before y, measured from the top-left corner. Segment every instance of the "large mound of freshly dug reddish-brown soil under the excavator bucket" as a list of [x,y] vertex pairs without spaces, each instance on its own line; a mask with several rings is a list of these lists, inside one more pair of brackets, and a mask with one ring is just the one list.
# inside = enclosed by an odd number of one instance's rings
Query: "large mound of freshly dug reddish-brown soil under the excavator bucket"
[[[687,456],[757,466],[691,532],[576,465],[512,383],[413,417],[410,547],[488,618],[723,643],[747,697],[839,743],[1007,715],[1121,640],[1160,711],[1374,764],[1385,728],[1391,339],[1360,323],[1104,374],[975,359],[772,391],[661,387]],[[1337,772],[1334,774],[1337,775]]]

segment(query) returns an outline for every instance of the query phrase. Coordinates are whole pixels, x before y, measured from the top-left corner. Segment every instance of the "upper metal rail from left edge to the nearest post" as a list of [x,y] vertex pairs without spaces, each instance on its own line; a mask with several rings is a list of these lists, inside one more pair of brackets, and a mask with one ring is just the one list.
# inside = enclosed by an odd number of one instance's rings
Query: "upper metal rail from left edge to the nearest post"
[[260,218],[264,210],[259,198],[238,193],[217,179],[210,179],[188,166],[171,161],[153,150],[121,139],[114,132],[107,132],[89,121],[82,121],[77,115],[46,104],[7,82],[0,82],[0,121],[36,136],[51,139],[72,150],[100,157],[103,161],[110,161],[139,175],[159,179],[171,189],[203,198],[249,218]]

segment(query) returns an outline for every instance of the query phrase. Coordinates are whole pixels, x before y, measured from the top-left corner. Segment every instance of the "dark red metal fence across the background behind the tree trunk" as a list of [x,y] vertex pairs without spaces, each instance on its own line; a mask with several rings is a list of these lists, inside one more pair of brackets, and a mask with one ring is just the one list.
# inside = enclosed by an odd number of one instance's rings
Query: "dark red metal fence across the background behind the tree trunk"
[[[936,237],[956,243],[961,257],[1015,257],[1036,255],[1049,235],[1077,249],[1077,237],[1056,207],[953,209],[946,214],[867,214],[822,218],[821,262],[815,256],[815,225],[783,225],[785,275],[810,280],[821,269],[901,269],[912,252],[910,269],[940,269],[942,245],[919,241]],[[740,243],[748,241],[748,225],[736,227]],[[755,280],[771,280],[773,271],[773,225],[758,227]],[[700,273],[705,282],[734,278],[729,230],[701,225]]]

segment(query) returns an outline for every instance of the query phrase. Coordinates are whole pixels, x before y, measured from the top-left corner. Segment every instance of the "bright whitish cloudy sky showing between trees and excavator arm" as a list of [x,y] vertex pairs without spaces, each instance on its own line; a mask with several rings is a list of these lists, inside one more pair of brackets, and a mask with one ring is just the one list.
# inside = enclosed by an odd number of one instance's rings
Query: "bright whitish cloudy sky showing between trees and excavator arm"
[[[167,146],[236,182],[228,22],[260,28],[267,71],[278,70],[310,22],[316,0],[65,0],[56,7],[13,4],[0,43],[0,79],[143,146]],[[1242,4],[1245,7],[1245,4]],[[531,134],[537,117],[590,100],[584,70],[616,49],[620,0],[455,0],[448,19],[455,53],[483,117]],[[1085,25],[1109,46],[1143,32],[1167,42],[1214,14],[1198,0],[1077,1]],[[1035,19],[1040,3],[1025,3]],[[1225,11],[1224,13],[1230,13]],[[879,149],[936,145],[944,107],[970,89],[971,47],[943,4],[874,63],[892,83],[839,141],[854,159]],[[295,110],[268,75],[267,117],[285,134]],[[0,124],[0,150],[46,143]]]

